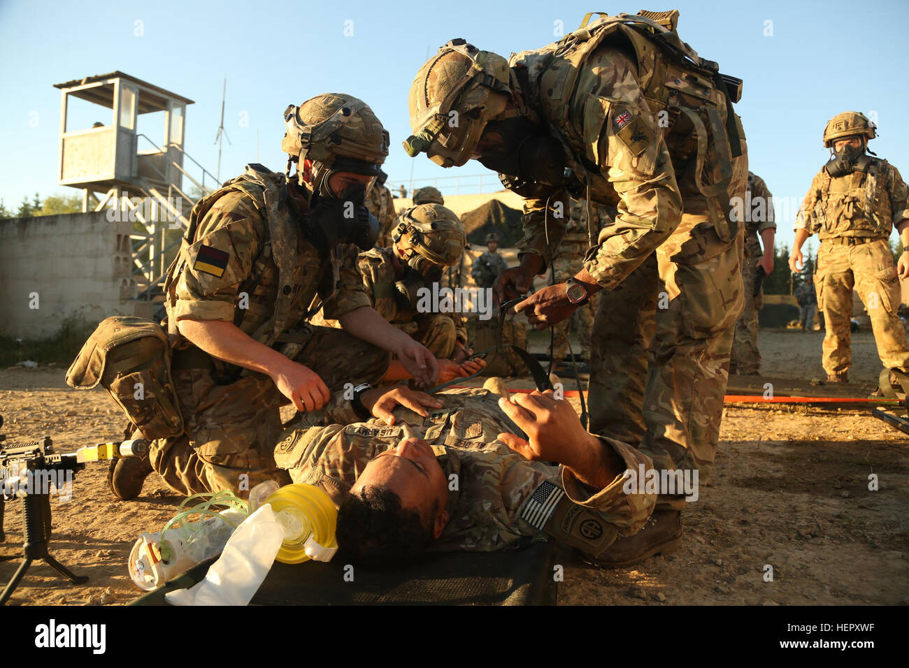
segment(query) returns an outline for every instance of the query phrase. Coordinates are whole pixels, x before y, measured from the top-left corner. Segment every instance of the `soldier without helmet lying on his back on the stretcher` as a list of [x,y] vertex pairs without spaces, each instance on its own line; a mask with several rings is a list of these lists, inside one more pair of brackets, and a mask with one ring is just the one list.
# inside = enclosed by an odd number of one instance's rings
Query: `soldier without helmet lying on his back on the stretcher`
[[[625,494],[621,477],[650,468],[650,459],[586,433],[551,392],[508,401],[450,390],[395,403],[367,390],[352,402],[357,409],[337,406],[328,416],[335,424],[288,429],[275,447],[295,483],[322,487],[340,506],[345,559],[401,566],[427,547],[491,552],[547,534],[596,557],[651,513],[655,494]],[[402,530],[408,515],[414,534]]]

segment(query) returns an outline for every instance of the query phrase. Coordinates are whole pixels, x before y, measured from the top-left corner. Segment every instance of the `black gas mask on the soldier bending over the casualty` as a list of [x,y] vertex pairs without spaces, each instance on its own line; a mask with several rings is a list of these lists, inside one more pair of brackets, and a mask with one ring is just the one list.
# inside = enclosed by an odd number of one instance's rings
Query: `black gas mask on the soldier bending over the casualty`
[[526,116],[487,123],[480,141],[484,138],[491,146],[477,160],[485,167],[518,181],[565,184],[562,144]]

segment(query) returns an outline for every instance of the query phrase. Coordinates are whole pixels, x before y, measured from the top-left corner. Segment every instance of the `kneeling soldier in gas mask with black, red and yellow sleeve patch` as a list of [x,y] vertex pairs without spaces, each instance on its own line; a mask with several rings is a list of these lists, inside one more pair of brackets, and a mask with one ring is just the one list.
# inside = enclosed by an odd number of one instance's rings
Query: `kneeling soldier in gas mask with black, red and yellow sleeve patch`
[[[115,462],[109,482],[122,499],[153,468],[179,494],[244,494],[280,479],[282,394],[298,411],[321,409],[345,383],[381,379],[389,352],[435,380],[435,358],[375,313],[356,272],[357,246],[375,241],[363,203],[388,154],[385,129],[340,94],[291,105],[285,121],[298,183],[248,165],[193,208],[165,283],[185,432],[153,442],[149,460]],[[347,331],[305,324],[320,305]]]

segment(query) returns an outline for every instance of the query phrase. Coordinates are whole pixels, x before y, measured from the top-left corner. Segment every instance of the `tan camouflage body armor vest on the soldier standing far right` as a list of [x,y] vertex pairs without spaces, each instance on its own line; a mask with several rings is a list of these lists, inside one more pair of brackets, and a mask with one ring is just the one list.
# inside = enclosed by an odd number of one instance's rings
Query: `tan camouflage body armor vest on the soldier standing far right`
[[811,215],[812,234],[821,240],[839,236],[890,236],[893,210],[885,192],[887,161],[861,156],[850,174],[833,177],[821,171],[821,187]]

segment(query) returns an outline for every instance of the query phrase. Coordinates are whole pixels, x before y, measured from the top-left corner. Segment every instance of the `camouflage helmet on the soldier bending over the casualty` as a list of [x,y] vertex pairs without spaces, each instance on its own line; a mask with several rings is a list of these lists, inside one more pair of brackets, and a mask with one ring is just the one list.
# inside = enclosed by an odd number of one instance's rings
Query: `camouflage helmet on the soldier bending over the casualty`
[[420,68],[410,86],[407,155],[425,153],[436,165],[460,167],[480,141],[486,122],[511,97],[508,61],[453,39]]

